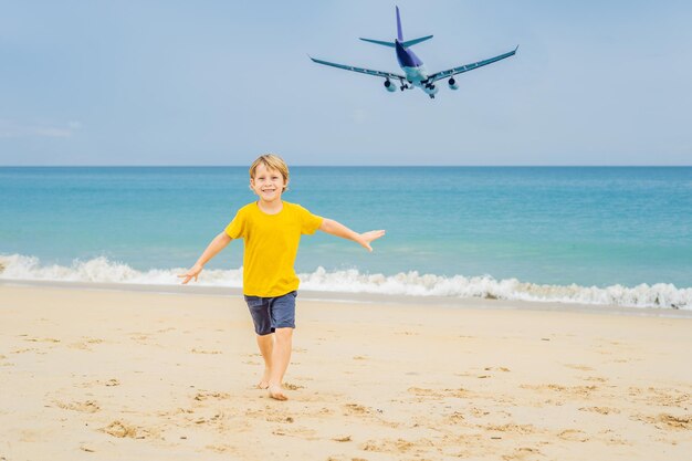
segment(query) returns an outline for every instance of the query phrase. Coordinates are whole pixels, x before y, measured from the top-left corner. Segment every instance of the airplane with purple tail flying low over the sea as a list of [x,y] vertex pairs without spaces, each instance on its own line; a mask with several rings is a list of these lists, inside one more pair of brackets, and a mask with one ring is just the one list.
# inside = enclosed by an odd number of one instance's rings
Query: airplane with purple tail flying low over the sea
[[399,67],[401,67],[405,75],[396,74],[392,72],[373,71],[370,69],[356,67],[353,65],[337,64],[337,63],[333,63],[328,61],[317,60],[311,55],[308,55],[308,57],[317,64],[331,65],[332,67],[344,69],[346,71],[359,72],[361,74],[385,77],[385,88],[387,88],[387,91],[390,93],[397,91],[396,85],[391,81],[398,80],[400,82],[399,88],[401,91],[412,90],[416,86],[418,86],[426,94],[428,94],[428,96],[430,96],[431,99],[434,99],[434,95],[439,91],[438,86],[436,86],[434,84],[437,81],[450,77],[450,80],[447,82],[450,90],[459,90],[459,84],[454,80],[454,75],[473,71],[484,65],[504,60],[505,57],[513,56],[516,53],[516,50],[518,50],[518,45],[517,45],[514,50],[507,53],[500,54],[497,56],[494,56],[487,60],[474,62],[471,64],[460,65],[458,67],[452,67],[447,71],[429,74],[422,61],[411,50],[409,50],[409,46],[412,46],[417,43],[424,42],[426,40],[432,39],[432,35],[426,35],[419,39],[405,41],[403,34],[401,33],[401,19],[399,17],[399,7],[396,7],[396,9],[397,9],[397,39],[395,39],[394,42],[385,42],[381,40],[363,39],[363,38],[360,38],[360,40],[363,40],[364,42],[394,48],[397,53],[397,61],[399,62]]

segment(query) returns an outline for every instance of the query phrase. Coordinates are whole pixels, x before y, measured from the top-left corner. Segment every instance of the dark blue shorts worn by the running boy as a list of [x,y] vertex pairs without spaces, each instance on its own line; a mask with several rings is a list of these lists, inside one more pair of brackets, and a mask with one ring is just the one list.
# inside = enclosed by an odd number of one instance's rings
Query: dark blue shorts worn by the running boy
[[274,333],[276,328],[295,328],[295,298],[293,291],[283,296],[245,296],[245,303],[252,315],[254,332],[260,335]]

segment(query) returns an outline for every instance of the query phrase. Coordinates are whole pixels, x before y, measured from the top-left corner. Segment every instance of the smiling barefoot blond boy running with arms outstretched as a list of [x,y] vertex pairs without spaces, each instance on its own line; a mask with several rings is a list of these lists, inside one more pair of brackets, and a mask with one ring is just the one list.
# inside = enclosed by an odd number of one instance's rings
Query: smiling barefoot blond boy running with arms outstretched
[[281,195],[289,186],[289,167],[275,155],[260,156],[250,167],[250,188],[259,200],[238,210],[235,218],[205,250],[186,273],[182,284],[197,281],[205,264],[233,239],[244,240],[243,294],[250,308],[258,346],[264,358],[264,375],[258,387],[269,396],[286,400],[283,376],[291,360],[291,339],[295,328],[295,297],[298,279],[293,264],[302,234],[316,230],[353,240],[368,251],[370,242],[384,230],[357,233],[326,218],[312,214],[300,205],[289,203]]

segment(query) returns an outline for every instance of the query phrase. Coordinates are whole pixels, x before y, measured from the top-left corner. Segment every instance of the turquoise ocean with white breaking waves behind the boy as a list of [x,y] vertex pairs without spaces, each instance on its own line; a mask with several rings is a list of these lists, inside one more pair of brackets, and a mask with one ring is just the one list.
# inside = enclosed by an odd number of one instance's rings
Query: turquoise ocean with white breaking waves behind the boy
[[[0,168],[0,280],[176,284],[247,167]],[[302,286],[692,310],[692,167],[293,167],[284,199],[357,231],[305,235]],[[241,286],[242,242],[200,284]]]

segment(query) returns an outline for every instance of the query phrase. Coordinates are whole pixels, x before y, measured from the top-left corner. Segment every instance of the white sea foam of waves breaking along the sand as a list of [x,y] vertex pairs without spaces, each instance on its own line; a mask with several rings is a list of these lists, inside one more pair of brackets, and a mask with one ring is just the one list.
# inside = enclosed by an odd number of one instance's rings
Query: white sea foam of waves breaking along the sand
[[[41,265],[38,258],[21,254],[0,255],[0,280],[41,280],[70,282],[137,283],[147,285],[179,284],[178,274],[187,269],[137,271],[106,258],[74,261],[66,265]],[[692,310],[692,287],[678,289],[657,283],[637,286],[606,287],[580,285],[538,285],[516,279],[495,280],[490,275],[451,277],[419,274],[416,271],[396,275],[367,274],[357,270],[298,274],[301,287],[322,292],[377,293],[408,296],[451,296],[602,304],[630,307],[668,307]],[[205,270],[199,279],[205,286],[242,286],[242,268]]]

